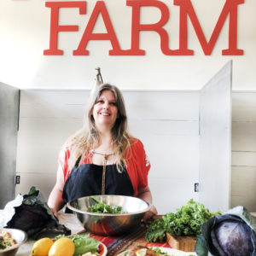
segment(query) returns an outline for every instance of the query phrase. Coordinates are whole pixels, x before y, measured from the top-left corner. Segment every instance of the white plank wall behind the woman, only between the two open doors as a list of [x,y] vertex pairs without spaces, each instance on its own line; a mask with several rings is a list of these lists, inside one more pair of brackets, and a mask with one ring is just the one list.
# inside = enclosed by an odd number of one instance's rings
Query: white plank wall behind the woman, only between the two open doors
[[[123,91],[131,134],[142,140],[149,187],[160,214],[198,199],[198,91]],[[62,144],[83,124],[89,90],[21,90],[16,194],[32,185],[45,198]]]

